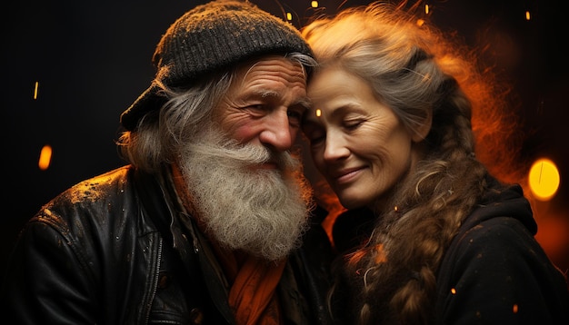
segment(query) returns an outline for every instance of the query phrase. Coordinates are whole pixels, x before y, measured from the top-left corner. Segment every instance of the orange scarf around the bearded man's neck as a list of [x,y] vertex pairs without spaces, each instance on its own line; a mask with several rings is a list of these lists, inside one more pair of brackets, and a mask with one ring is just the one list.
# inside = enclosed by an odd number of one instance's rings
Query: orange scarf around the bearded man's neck
[[[172,165],[176,192],[185,205],[185,209],[200,221],[186,191],[185,181],[179,169]],[[276,286],[283,275],[286,259],[283,261],[265,261],[238,251],[224,250],[212,241],[215,255],[225,271],[229,290],[229,306],[235,312],[238,325],[278,325],[281,312]]]

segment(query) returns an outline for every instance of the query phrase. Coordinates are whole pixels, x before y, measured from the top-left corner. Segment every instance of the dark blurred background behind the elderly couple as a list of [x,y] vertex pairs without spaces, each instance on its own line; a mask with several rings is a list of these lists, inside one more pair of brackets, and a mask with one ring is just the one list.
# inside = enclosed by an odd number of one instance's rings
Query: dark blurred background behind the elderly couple
[[[0,218],[2,270],[24,222],[67,187],[122,165],[115,139],[119,115],[150,84],[151,57],[177,17],[205,1],[27,1],[3,10],[2,156]],[[302,26],[314,14],[308,0],[253,1]],[[368,1],[320,1],[324,13]],[[546,156],[561,172],[560,192],[535,202],[538,240],[569,269],[569,117],[567,28],[560,1],[446,0],[428,2],[435,25],[456,32],[514,85],[514,109],[523,121],[520,158]],[[529,10],[532,19],[525,20]],[[38,97],[33,98],[35,82]],[[45,144],[51,166],[39,170]],[[314,170],[310,162],[309,177]]]

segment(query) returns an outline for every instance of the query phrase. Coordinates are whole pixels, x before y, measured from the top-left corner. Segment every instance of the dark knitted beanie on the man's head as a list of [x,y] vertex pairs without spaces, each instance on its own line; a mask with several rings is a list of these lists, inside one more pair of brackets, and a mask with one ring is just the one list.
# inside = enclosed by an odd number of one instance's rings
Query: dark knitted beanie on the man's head
[[[156,78],[167,86],[194,83],[206,74],[263,54],[299,52],[314,56],[293,25],[247,1],[216,0],[194,9],[170,25],[156,46]],[[124,113],[132,131],[145,113],[165,103],[153,84]]]

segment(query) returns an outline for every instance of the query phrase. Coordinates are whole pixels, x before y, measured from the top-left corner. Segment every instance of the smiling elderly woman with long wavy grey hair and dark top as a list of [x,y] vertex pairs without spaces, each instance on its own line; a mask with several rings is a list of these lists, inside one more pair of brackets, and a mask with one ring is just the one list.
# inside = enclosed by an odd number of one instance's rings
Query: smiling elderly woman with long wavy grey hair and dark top
[[303,131],[347,209],[333,229],[334,319],[569,323],[566,280],[534,239],[522,188],[475,147],[492,152],[504,97],[404,8],[346,9],[303,30],[319,62]]

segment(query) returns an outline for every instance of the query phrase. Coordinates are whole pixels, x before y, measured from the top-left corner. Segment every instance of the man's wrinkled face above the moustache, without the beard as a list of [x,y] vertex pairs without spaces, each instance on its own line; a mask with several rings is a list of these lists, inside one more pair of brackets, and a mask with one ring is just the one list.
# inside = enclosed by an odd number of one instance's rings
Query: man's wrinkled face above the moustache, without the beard
[[284,152],[294,143],[307,107],[302,66],[270,57],[238,69],[216,113],[231,138]]

